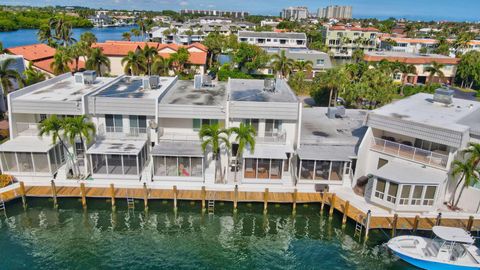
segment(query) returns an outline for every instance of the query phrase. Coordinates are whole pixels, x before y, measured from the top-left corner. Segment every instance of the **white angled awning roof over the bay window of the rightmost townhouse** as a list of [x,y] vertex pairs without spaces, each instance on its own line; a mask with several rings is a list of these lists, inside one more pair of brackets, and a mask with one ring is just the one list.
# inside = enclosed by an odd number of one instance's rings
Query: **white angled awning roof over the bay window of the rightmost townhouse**
[[445,181],[447,172],[408,161],[389,161],[373,175],[398,184],[434,184]]

